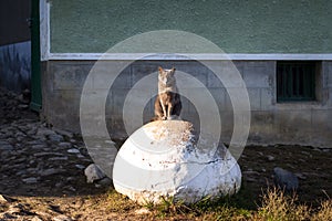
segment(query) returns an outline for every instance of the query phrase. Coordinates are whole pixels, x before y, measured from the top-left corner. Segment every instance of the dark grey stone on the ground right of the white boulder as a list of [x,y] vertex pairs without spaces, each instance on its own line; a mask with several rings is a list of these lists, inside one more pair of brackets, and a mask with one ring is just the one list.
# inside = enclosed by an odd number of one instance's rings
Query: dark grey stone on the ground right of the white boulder
[[276,167],[273,173],[276,186],[284,188],[287,191],[293,191],[299,188],[299,179],[294,173],[280,167]]

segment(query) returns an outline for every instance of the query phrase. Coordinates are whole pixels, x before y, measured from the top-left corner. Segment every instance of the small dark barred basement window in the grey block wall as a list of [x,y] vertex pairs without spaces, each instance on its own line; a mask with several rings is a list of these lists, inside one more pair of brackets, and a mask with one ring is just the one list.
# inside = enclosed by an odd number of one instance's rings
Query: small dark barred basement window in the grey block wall
[[277,62],[277,102],[315,101],[317,70],[312,61]]

